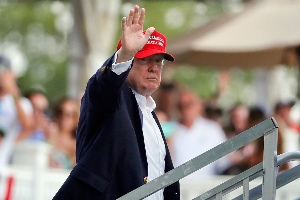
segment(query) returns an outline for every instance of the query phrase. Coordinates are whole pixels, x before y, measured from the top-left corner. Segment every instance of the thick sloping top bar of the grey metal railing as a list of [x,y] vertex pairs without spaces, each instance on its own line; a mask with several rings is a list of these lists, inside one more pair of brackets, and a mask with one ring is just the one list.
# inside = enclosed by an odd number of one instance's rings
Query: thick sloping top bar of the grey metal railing
[[276,127],[272,118],[269,118],[254,127],[232,137],[222,144],[206,151],[205,153],[189,160],[188,162],[172,169],[171,171],[161,175],[160,177],[150,181],[149,183],[127,193],[118,200],[138,200],[146,198],[151,194],[161,190],[170,184],[184,178],[185,176],[201,169],[204,166],[220,159],[221,157],[235,151],[238,148],[254,141],[262,135],[274,130]]

